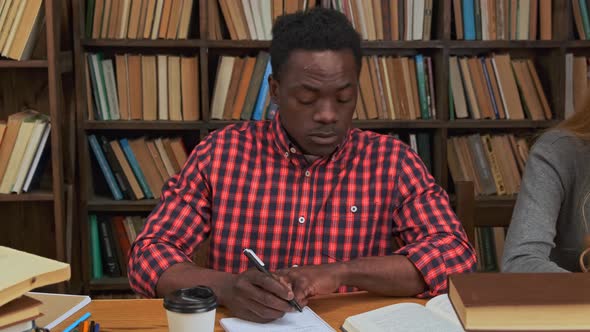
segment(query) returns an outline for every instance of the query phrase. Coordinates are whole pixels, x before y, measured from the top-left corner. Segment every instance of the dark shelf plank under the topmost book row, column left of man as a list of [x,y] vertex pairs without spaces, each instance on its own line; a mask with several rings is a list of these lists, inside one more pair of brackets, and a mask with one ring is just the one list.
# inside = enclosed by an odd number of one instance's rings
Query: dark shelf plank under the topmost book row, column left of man
[[204,46],[200,39],[82,39],[87,48],[199,48]]

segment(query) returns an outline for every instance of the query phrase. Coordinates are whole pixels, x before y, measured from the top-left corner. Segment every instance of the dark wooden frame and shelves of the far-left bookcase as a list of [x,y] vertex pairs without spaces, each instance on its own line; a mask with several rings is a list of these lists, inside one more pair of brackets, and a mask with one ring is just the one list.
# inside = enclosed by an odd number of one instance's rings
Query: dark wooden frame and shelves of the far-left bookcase
[[[72,144],[75,113],[67,102],[66,87],[73,79],[73,53],[67,1],[43,1],[45,25],[37,38],[34,58],[16,61],[0,57],[0,118],[29,107],[48,115],[52,124],[46,149],[48,162],[42,170],[38,189],[20,194],[0,194],[2,211],[2,245],[60,261],[79,259],[71,250],[74,206],[73,180],[75,164]],[[72,130],[72,131],[70,131]],[[79,278],[78,271],[72,271]],[[70,283],[70,287],[75,287]],[[63,291],[65,284],[57,289]]]

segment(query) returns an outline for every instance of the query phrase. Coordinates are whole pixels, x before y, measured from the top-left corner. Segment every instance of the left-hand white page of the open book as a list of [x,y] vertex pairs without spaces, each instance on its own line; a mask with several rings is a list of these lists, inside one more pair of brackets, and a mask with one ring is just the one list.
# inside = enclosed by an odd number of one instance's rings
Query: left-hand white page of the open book
[[[358,331],[462,332],[463,329],[416,303],[400,303],[346,319]],[[351,329],[352,330],[352,329]]]

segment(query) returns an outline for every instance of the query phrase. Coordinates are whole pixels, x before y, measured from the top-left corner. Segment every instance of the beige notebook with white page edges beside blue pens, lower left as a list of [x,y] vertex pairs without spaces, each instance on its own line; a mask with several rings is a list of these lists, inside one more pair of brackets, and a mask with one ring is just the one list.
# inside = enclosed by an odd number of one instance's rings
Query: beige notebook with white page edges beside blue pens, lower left
[[43,316],[35,322],[38,327],[51,330],[66,320],[78,310],[90,303],[90,297],[86,295],[66,295],[29,292],[27,296],[41,301],[40,312]]

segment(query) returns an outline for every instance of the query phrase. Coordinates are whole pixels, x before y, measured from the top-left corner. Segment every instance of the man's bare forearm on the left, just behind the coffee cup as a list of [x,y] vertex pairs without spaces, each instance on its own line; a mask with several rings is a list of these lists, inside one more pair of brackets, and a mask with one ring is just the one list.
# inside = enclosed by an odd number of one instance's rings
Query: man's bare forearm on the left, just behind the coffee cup
[[232,284],[234,277],[235,275],[228,272],[206,269],[192,263],[178,263],[162,273],[156,286],[156,294],[163,297],[179,288],[204,285],[213,290],[220,304],[224,304],[225,289]]

